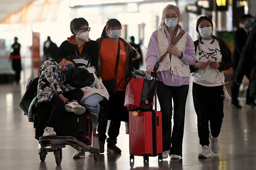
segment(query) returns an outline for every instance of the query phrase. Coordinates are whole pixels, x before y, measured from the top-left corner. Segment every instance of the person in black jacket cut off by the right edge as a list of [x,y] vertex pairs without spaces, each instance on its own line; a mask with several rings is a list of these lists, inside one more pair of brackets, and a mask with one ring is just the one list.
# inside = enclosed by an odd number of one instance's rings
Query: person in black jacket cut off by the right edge
[[[250,67],[251,68],[248,68]],[[251,70],[249,76],[250,96],[256,98],[256,19],[252,22],[252,30],[245,42],[241,57],[235,73],[235,83],[242,83],[247,69]],[[253,105],[252,105],[253,108]]]

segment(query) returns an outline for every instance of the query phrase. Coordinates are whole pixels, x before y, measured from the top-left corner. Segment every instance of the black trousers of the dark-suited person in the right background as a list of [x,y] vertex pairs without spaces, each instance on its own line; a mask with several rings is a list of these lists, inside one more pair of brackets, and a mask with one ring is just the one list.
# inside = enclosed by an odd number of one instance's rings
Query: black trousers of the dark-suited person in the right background
[[[236,69],[233,69],[233,77],[235,78],[235,72],[236,72]],[[249,79],[250,78],[250,73],[246,73],[245,76]],[[231,104],[239,104],[238,103],[238,93],[239,93],[239,88],[240,88],[240,85],[238,85],[237,83],[233,82],[232,84],[232,87],[231,87]],[[253,97],[250,97],[250,88],[248,87],[247,88],[247,91],[246,91],[246,104],[252,104],[254,102],[254,98]]]

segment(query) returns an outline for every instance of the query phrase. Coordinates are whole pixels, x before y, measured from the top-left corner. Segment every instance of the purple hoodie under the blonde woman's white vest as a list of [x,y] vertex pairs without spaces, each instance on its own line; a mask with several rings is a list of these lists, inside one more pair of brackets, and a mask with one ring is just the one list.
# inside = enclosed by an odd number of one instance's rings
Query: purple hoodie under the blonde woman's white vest
[[[172,38],[167,30],[167,26],[163,25],[162,27],[164,28],[165,35],[167,36],[169,44],[171,44]],[[171,56],[172,54],[170,54],[170,57]],[[147,47],[147,55],[146,55],[147,69],[149,68],[153,69],[157,59],[158,59],[158,47],[157,47],[157,30],[156,30],[151,35],[149,45]],[[187,34],[187,40],[186,40],[186,50],[181,60],[186,65],[193,65],[196,62],[194,42],[191,36],[189,36],[188,34]],[[189,77],[180,77],[180,76],[172,75],[172,73],[170,73],[170,71],[168,70],[159,71],[158,78],[160,79],[161,82],[163,82],[165,85],[168,85],[168,86],[181,86],[181,85],[189,84]]]

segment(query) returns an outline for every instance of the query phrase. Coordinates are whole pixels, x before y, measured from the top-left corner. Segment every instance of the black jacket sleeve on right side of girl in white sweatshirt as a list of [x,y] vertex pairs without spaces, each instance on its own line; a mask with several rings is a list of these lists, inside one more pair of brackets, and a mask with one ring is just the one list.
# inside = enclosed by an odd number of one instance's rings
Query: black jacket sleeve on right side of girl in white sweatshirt
[[218,39],[218,41],[219,44],[223,46],[223,51],[221,52],[222,60],[221,62],[219,62],[219,70],[224,71],[232,67],[231,51],[228,45],[223,40]]

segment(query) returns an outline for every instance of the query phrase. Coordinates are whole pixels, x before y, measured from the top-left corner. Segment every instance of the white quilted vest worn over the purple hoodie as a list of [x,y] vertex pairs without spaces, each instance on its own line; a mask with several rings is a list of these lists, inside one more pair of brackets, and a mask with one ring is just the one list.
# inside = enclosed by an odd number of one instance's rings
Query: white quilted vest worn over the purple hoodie
[[[177,32],[179,34],[180,29]],[[186,50],[186,41],[187,41],[187,33],[185,33],[182,38],[175,44],[183,54],[185,54]],[[165,52],[167,52],[169,47],[168,39],[165,35],[164,29],[158,29],[157,31],[157,43],[158,43],[158,59],[160,59]],[[166,71],[169,70],[173,75],[180,76],[180,77],[189,77],[190,70],[189,65],[184,64],[184,62],[179,59],[178,56],[172,55],[172,60],[170,60],[170,53],[163,59],[162,62],[159,64],[159,68],[157,71]]]

